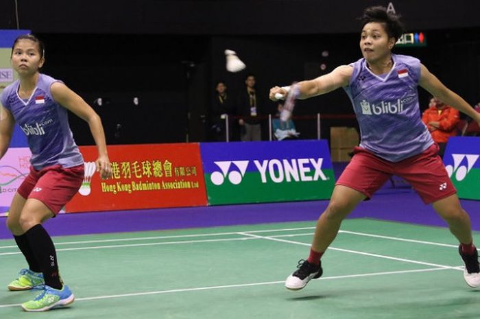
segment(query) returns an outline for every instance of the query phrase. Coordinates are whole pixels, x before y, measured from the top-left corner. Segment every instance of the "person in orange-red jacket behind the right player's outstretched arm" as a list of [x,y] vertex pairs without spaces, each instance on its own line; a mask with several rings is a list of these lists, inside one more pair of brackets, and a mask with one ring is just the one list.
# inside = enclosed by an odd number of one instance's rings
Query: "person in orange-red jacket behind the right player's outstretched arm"
[[433,141],[440,147],[438,155],[443,158],[446,142],[450,137],[457,135],[459,111],[432,97],[429,108],[422,115],[422,121],[429,128]]

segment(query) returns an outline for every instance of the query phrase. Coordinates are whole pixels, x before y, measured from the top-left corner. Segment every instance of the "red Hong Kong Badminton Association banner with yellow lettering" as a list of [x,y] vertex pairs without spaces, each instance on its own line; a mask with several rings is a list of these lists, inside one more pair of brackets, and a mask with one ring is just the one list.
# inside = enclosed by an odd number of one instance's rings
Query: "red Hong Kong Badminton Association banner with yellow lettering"
[[198,143],[108,146],[108,180],[96,172],[97,147],[81,146],[80,152],[85,178],[67,213],[207,204]]

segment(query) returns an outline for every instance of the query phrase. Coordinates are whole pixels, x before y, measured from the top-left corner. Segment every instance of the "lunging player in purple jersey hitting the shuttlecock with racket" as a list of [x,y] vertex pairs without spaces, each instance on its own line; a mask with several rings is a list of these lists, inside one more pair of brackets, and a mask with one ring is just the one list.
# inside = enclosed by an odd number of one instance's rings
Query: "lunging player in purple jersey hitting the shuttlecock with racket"
[[[342,220],[365,198],[371,198],[392,175],[407,180],[422,200],[448,224],[459,241],[465,263],[464,279],[480,286],[477,248],[472,243],[470,217],[464,211],[450,178],[437,156],[437,145],[420,119],[417,87],[480,123],[480,113],[446,88],[423,64],[411,56],[392,54],[403,26],[398,16],[383,7],[363,12],[360,49],[363,58],[331,73],[299,83],[298,98],[306,99],[344,88],[361,130],[361,143],[337,181],[326,210],[320,215],[310,255],[298,263],[285,286],[300,290],[322,276],[320,258],[335,239]],[[269,97],[287,94],[288,86],[275,86]],[[277,95],[278,96],[278,95]]]

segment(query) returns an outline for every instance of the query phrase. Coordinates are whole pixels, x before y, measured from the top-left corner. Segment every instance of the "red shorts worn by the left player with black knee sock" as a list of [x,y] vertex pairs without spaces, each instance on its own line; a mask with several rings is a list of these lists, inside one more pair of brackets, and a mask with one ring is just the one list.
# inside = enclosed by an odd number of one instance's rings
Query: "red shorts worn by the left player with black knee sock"
[[30,174],[23,180],[17,192],[25,199],[40,200],[54,214],[58,214],[80,189],[83,180],[83,164],[69,168],[53,165],[40,171],[30,167]]

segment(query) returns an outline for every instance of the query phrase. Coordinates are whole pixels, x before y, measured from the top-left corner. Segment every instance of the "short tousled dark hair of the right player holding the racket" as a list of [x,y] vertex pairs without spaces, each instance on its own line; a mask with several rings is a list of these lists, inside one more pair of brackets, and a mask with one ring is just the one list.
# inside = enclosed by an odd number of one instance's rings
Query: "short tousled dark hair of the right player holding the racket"
[[385,26],[385,32],[387,32],[389,38],[395,38],[395,40],[398,40],[404,32],[403,23],[400,22],[400,17],[400,14],[387,12],[387,8],[382,6],[369,7],[363,11],[361,27],[365,27],[365,25],[370,22],[383,23]]

